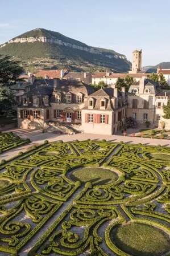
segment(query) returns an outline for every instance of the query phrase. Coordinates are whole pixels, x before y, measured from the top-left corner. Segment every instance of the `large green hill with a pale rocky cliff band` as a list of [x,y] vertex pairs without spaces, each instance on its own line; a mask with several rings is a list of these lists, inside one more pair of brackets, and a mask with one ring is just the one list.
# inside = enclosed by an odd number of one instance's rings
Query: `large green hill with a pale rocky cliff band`
[[109,68],[116,72],[127,72],[131,68],[131,63],[123,54],[91,47],[59,32],[45,29],[28,31],[0,47],[0,54],[17,57],[27,67],[67,67],[76,71]]

